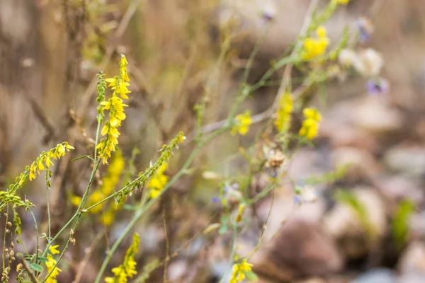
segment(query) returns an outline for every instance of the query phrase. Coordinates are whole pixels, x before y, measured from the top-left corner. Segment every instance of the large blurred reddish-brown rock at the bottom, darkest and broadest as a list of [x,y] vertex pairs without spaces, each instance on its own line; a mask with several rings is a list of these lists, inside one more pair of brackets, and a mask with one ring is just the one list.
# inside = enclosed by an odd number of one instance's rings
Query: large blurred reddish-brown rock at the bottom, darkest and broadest
[[[268,243],[267,243],[268,242]],[[290,219],[273,241],[265,241],[251,262],[267,277],[288,281],[295,277],[326,275],[343,267],[336,245],[316,224]]]

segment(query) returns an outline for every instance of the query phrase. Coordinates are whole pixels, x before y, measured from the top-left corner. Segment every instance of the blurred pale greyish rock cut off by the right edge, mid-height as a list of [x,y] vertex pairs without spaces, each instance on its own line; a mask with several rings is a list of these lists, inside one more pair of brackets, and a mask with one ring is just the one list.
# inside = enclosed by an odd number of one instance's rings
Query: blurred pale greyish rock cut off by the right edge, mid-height
[[425,174],[424,148],[397,146],[386,152],[384,161],[393,171],[419,178]]

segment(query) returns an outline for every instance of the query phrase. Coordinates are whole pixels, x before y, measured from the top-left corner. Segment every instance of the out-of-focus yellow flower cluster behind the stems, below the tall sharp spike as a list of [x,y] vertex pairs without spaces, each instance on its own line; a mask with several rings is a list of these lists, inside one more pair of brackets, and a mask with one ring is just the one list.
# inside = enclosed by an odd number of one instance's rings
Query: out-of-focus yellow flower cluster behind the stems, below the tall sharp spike
[[[89,200],[87,201],[87,205],[89,207],[91,207],[91,205],[93,204],[101,202],[101,200],[105,199],[105,197],[108,197],[108,195],[111,195],[111,193],[115,189],[115,186],[120,181],[120,175],[121,173],[123,173],[124,167],[125,162],[123,159],[123,155],[120,151],[117,151],[108,166],[108,172],[105,178],[103,178],[102,180],[101,187],[98,190],[92,192],[89,196]],[[76,207],[78,207],[81,203],[81,197],[78,197],[77,195],[74,195],[71,200],[72,204],[74,204]],[[98,212],[101,212],[101,210],[102,204],[99,204],[96,207],[90,209],[90,212],[92,214],[97,214]],[[108,211],[105,212],[105,214],[103,214],[103,217],[101,218],[101,221],[106,226],[109,226],[114,219],[113,211],[115,211],[115,206],[108,209]]]

